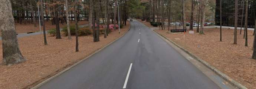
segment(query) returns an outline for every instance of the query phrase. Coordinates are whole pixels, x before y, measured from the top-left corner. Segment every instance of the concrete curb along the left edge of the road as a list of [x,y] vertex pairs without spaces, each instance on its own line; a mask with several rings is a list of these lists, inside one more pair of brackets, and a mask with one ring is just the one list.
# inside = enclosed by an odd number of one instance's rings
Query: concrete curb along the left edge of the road
[[42,86],[43,84],[45,84],[45,83],[49,82],[50,80],[56,78],[57,76],[61,75],[62,73],[66,72],[66,71],[68,71],[69,69],[72,69],[73,67],[75,67],[75,66],[78,65],[79,63],[83,62],[84,60],[88,59],[89,57],[91,57],[91,56],[95,55],[96,53],[100,52],[101,50],[105,49],[106,47],[108,47],[108,46],[111,45],[112,43],[116,42],[118,39],[120,39],[121,37],[123,37],[123,36],[130,30],[130,28],[131,28],[131,23],[129,22],[129,24],[130,24],[130,27],[128,28],[128,30],[127,30],[124,34],[122,34],[120,37],[118,37],[117,39],[115,39],[114,41],[108,43],[106,46],[102,47],[101,49],[97,50],[96,52],[92,53],[91,55],[85,57],[85,59],[80,60],[79,62],[75,63],[74,65],[69,66],[68,68],[62,70],[61,72],[59,72],[59,73],[53,75],[52,77],[50,77],[50,78],[44,80],[43,82],[37,84],[36,86],[34,86],[33,88],[30,88],[30,89],[37,89],[37,88],[39,88],[39,87]]

